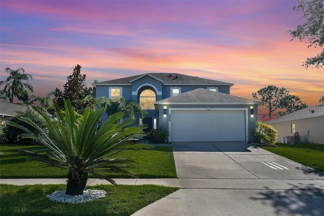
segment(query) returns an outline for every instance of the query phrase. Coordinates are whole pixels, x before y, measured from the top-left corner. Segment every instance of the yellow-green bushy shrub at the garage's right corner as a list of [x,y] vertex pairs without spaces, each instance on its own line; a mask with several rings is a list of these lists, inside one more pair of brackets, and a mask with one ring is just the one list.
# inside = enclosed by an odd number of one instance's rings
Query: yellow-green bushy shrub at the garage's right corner
[[275,139],[278,137],[277,131],[271,126],[264,122],[257,121],[256,127],[253,130],[253,136],[255,142],[275,144]]

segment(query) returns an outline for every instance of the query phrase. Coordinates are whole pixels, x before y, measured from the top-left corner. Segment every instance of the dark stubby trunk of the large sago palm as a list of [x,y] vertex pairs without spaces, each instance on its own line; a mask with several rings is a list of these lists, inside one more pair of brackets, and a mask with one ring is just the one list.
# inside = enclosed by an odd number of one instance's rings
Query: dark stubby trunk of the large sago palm
[[67,195],[82,195],[86,188],[88,179],[88,172],[77,173],[71,172],[68,174],[66,194]]

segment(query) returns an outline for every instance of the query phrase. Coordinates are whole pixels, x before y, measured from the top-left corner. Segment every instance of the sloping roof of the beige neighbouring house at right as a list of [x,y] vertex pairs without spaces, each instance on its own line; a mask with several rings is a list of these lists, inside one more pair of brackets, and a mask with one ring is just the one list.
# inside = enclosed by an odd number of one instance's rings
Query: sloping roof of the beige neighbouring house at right
[[286,122],[286,121],[294,121],[300,119],[310,119],[316,117],[324,116],[324,105],[314,105],[307,107],[303,110],[295,111],[294,113],[286,114],[285,116],[280,116],[267,123],[276,123],[276,122]]

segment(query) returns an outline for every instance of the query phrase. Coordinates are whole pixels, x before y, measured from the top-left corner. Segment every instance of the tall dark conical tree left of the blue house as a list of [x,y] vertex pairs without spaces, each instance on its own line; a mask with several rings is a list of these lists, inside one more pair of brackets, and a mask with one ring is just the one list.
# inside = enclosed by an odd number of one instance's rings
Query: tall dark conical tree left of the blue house
[[61,109],[64,109],[64,99],[69,99],[79,114],[82,114],[87,107],[95,108],[95,99],[92,96],[93,89],[87,87],[86,75],[81,75],[81,66],[76,65],[72,75],[67,77],[67,82],[64,84],[64,91],[59,88],[55,89],[53,102]]

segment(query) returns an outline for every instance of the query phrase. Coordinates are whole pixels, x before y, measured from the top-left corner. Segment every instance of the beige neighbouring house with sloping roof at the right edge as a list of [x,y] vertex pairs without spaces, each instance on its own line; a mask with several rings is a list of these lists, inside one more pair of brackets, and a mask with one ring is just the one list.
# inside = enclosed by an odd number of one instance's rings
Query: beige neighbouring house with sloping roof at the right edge
[[310,106],[266,123],[277,130],[277,142],[298,132],[302,142],[324,144],[324,105]]

